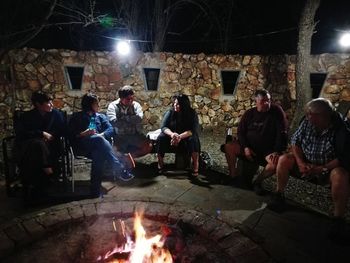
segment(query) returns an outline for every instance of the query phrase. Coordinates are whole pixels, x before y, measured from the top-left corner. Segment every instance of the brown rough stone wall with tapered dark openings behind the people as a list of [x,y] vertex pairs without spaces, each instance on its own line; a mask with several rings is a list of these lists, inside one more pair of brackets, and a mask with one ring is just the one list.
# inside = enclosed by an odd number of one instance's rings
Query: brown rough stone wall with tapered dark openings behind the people
[[[135,53],[123,58],[114,52],[24,48],[12,50],[1,64],[12,71],[11,81],[0,81],[1,138],[12,133],[13,110],[30,109],[30,94],[40,89],[53,96],[55,107],[70,113],[79,110],[80,98],[88,91],[98,94],[105,111],[119,87],[132,85],[144,110],[145,130],[159,127],[176,92],[190,96],[204,129],[219,132],[237,125],[253,106],[257,88],[268,89],[289,116],[295,100],[295,56],[288,55]],[[85,67],[78,91],[70,90],[64,74],[64,66],[74,65]],[[144,67],[160,68],[158,91],[146,91]],[[232,96],[222,95],[221,70],[240,71]],[[350,55],[315,55],[312,72],[328,73],[321,96],[333,102],[350,100]]]

